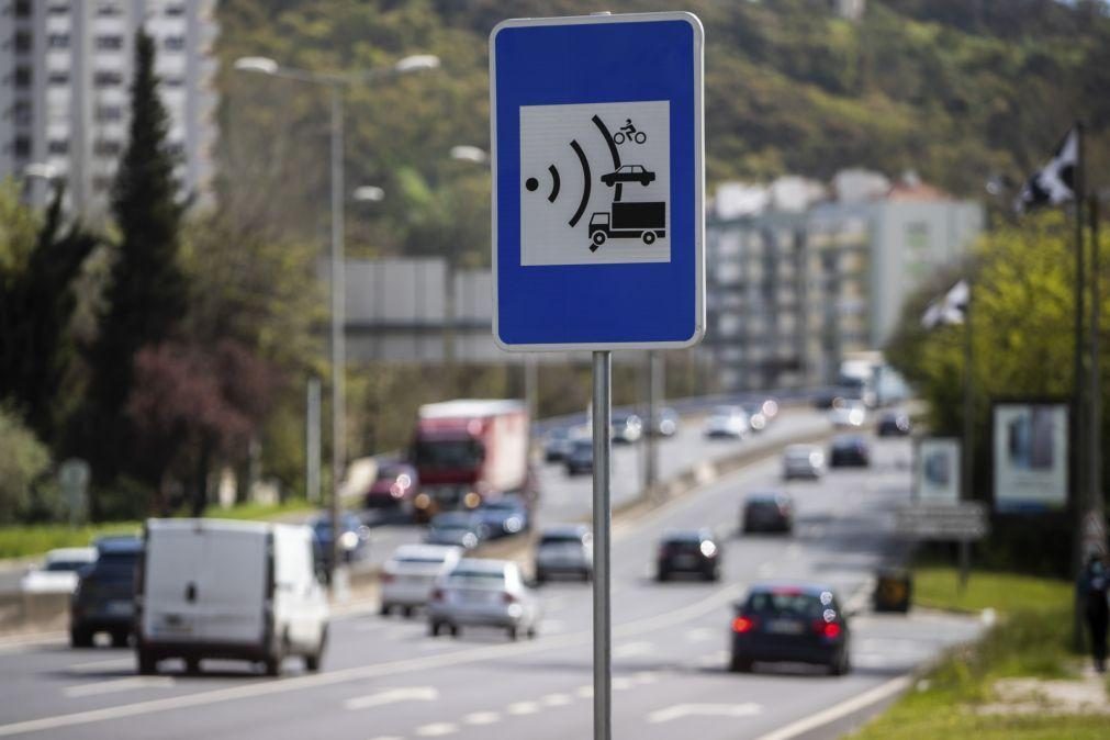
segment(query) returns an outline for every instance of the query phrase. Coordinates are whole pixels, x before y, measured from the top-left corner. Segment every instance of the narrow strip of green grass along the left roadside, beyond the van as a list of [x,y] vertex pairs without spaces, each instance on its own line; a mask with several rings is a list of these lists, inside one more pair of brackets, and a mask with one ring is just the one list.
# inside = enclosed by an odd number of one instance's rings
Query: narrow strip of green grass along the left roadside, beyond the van
[[[290,499],[273,506],[244,504],[226,509],[209,507],[204,514],[221,519],[270,520],[312,509],[313,506],[304,499]],[[112,521],[75,528],[59,524],[0,527],[0,558],[31,557],[56,547],[84,547],[97,537],[137,535],[141,529],[140,521]]]

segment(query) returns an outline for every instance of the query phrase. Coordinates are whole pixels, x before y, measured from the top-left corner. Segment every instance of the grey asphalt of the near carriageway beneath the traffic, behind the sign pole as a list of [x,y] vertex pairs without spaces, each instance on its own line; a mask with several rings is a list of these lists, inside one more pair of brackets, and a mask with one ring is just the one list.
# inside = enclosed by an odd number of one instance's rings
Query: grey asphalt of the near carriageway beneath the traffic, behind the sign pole
[[[726,671],[729,605],[753,581],[818,579],[859,604],[874,569],[898,557],[892,507],[909,495],[909,443],[872,446],[869,470],[784,486],[778,460],[765,459],[615,528],[615,737],[734,740],[798,728],[816,712],[881,693],[977,633],[967,618],[862,614],[851,625],[855,670],[846,677],[798,666]],[[744,493],[768,487],[795,497],[795,535],[739,537]],[[650,564],[660,533],[694,526],[713,526],[724,538],[723,579],[656,584]],[[545,619],[536,640],[509,642],[478,629],[431,638],[420,617],[382,618],[371,605],[333,620],[321,673],[290,660],[281,679],[224,661],[205,662],[196,677],[172,661],[160,676],[137,677],[127,650],[9,643],[0,648],[0,737],[588,738],[591,589],[557,582],[539,594]],[[805,737],[828,736],[818,727]]]

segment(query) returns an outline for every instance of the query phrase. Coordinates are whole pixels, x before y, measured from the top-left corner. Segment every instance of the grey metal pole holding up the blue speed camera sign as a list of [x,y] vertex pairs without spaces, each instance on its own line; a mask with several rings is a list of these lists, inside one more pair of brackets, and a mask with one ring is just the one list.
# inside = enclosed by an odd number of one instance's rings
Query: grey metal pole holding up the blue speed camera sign
[[609,602],[609,427],[612,353],[594,353],[594,740],[613,736],[613,633]]

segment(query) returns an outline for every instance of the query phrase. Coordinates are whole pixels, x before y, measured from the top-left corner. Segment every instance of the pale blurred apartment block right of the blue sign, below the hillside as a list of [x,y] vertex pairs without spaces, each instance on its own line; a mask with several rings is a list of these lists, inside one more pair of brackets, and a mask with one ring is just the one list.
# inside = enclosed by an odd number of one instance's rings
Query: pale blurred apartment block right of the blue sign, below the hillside
[[840,362],[881,348],[902,302],[958,262],[979,204],[907,176],[846,172],[829,187],[734,187],[709,213],[708,332],[722,391],[835,383]]

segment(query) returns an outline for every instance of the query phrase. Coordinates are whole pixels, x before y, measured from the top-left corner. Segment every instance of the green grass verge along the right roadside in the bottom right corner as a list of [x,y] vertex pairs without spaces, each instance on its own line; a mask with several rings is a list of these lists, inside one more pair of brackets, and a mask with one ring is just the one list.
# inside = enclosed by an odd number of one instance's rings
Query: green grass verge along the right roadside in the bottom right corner
[[975,572],[959,592],[950,568],[920,568],[915,601],[939,609],[991,608],[997,622],[983,638],[949,652],[916,689],[851,736],[854,740],[1040,740],[1107,738],[1110,718],[1087,714],[980,713],[996,700],[1002,678],[1070,678],[1077,656],[1070,650],[1072,586],[1062,580],[1013,574]]

